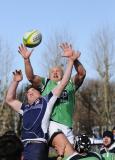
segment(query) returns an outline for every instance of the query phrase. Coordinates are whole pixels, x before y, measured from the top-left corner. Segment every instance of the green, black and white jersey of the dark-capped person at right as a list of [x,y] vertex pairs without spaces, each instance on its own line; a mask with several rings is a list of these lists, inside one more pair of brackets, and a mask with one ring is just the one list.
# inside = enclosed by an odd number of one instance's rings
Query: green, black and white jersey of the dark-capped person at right
[[108,149],[102,148],[100,154],[103,160],[115,160],[115,143],[113,143]]

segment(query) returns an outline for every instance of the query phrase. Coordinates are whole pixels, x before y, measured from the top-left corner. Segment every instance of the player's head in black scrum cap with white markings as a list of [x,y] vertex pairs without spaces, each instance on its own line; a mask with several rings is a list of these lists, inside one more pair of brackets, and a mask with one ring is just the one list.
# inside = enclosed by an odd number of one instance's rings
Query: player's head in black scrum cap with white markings
[[75,150],[78,153],[87,153],[91,149],[91,141],[87,135],[82,134],[76,138]]

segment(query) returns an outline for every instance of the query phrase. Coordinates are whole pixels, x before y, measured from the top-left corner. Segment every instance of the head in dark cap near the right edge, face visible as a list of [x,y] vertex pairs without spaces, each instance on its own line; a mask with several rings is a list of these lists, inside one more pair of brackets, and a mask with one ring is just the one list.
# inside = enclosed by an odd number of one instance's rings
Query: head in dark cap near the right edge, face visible
[[113,133],[111,131],[105,131],[103,133],[103,145],[108,148],[111,146],[113,142],[114,142]]

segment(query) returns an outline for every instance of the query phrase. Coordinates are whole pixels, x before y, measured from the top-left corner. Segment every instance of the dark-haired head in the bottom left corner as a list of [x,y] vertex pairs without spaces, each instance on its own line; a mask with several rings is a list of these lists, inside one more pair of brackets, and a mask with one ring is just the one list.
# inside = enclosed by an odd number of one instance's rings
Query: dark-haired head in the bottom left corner
[[0,136],[0,160],[21,160],[23,150],[21,140],[13,132]]

